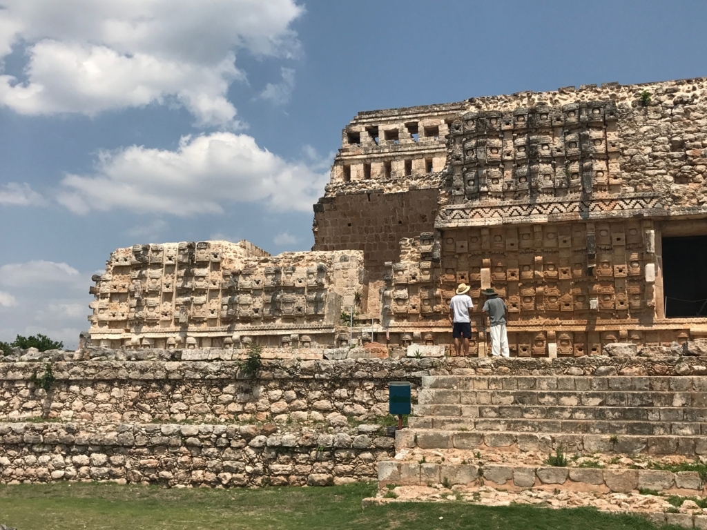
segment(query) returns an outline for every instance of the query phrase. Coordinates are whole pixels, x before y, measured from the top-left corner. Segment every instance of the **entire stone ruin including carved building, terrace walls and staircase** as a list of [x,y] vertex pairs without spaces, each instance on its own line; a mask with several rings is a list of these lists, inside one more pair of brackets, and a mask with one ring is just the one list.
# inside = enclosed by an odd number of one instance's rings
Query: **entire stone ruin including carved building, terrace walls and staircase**
[[[342,141],[312,252],[117,249],[77,351],[0,358],[0,481],[378,480],[366,504],[707,529],[679,499],[707,495],[707,80],[362,112]],[[461,282],[477,335],[454,358]],[[489,286],[510,359],[487,358]]]

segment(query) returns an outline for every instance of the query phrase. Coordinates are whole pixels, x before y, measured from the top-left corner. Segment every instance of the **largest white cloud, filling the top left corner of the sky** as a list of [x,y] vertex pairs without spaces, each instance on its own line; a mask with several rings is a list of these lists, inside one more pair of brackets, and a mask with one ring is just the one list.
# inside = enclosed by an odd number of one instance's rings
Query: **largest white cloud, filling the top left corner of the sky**
[[296,57],[294,0],[4,0],[0,58],[25,46],[25,79],[0,76],[21,114],[177,102],[199,126],[240,126],[226,99],[236,53]]

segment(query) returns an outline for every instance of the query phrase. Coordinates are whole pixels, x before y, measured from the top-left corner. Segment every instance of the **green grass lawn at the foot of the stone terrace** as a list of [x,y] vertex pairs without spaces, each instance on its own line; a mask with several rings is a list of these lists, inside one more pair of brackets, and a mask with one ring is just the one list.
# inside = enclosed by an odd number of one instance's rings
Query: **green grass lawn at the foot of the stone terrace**
[[[596,510],[396,503],[361,509],[373,484],[259,490],[53,483],[0,486],[0,523],[18,530],[465,529],[653,530]],[[440,519],[443,517],[443,519]],[[677,528],[677,527],[662,527]]]

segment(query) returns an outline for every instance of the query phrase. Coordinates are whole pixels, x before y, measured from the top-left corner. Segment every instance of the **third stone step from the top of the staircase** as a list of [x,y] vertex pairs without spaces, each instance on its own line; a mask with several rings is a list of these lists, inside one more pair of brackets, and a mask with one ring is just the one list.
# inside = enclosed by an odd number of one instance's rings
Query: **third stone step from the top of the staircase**
[[414,411],[422,413],[420,416],[423,418],[462,416],[464,418],[707,422],[707,408],[696,407],[415,405]]

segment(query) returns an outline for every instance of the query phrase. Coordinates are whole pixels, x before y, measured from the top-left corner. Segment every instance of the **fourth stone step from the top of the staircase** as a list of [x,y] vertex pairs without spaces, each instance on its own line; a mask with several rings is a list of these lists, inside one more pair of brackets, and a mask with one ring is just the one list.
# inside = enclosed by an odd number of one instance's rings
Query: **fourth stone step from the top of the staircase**
[[464,416],[426,416],[408,418],[416,429],[460,429],[471,431],[562,432],[568,434],[607,434],[643,436],[707,435],[707,423],[634,420],[556,420],[545,418],[473,418]]

